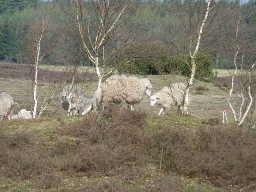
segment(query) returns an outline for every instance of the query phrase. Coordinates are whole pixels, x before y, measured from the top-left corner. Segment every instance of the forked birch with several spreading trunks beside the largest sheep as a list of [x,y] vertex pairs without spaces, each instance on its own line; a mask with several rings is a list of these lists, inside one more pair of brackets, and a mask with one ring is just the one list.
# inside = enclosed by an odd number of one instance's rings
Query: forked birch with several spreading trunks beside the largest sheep
[[[131,16],[138,3],[139,0],[72,0],[73,8],[67,6],[78,30],[84,56],[93,63],[97,73],[96,92],[101,92],[102,79],[120,67],[114,57],[135,38]],[[110,60],[113,63],[108,65]],[[127,63],[129,60],[124,65]]]

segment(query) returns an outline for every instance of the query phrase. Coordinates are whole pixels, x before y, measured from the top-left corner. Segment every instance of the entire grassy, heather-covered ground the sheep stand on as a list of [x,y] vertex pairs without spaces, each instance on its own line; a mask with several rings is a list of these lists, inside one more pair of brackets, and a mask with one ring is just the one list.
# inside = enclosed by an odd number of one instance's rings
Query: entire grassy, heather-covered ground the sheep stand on
[[[17,75],[9,68],[12,78],[0,77],[0,92],[30,109],[31,82],[15,67]],[[165,86],[163,76],[147,78],[153,92]],[[41,83],[43,98],[49,82]],[[97,82],[79,86],[92,97]],[[0,191],[255,191],[256,134],[221,124],[227,92],[197,82],[187,117],[176,108],[158,116],[149,98],[135,112],[67,117],[58,93],[42,118],[0,122]]]

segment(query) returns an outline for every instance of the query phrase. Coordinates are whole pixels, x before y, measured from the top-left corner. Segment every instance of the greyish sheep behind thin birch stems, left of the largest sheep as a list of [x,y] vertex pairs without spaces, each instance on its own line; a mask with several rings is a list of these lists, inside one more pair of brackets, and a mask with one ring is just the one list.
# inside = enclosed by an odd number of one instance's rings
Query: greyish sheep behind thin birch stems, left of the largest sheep
[[84,92],[78,85],[74,85],[72,89],[66,86],[62,91],[61,105],[63,109],[69,110],[68,116],[75,114],[75,112],[77,114],[90,112],[93,108],[92,102],[92,99],[86,98]]

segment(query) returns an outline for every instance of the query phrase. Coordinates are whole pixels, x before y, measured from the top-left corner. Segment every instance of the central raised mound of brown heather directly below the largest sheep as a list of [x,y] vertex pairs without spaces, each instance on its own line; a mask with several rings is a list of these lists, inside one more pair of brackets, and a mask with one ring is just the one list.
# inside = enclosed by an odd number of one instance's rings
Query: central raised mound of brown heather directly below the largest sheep
[[80,141],[65,167],[88,176],[139,171],[147,161],[150,145],[145,125],[146,114],[142,112],[110,107],[90,114],[63,131]]

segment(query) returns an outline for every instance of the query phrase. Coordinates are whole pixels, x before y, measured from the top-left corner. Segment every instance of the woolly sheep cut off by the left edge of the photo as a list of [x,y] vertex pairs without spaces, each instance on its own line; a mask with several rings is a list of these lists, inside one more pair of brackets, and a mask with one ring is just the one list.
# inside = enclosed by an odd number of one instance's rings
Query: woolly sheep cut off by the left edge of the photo
[[4,92],[0,94],[0,120],[12,118],[12,108],[15,104],[18,105],[11,95]]

